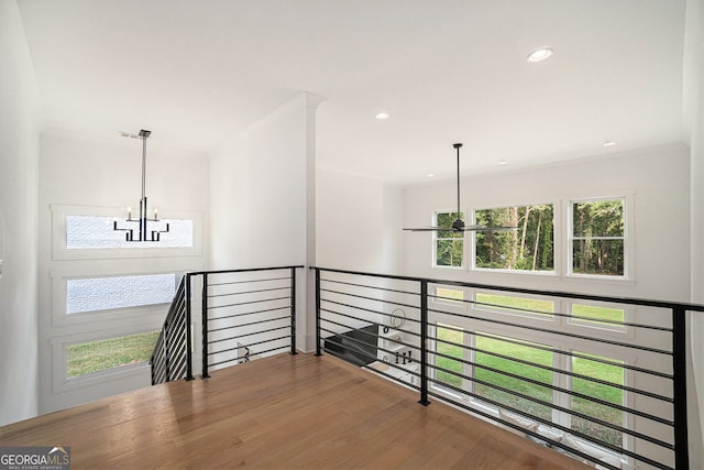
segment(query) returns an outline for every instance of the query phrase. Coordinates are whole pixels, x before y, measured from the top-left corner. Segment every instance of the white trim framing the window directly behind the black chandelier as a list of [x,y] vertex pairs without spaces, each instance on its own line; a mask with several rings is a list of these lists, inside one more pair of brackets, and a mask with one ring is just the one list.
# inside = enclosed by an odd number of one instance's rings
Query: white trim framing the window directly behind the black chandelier
[[116,220],[124,212],[120,207],[75,206],[52,204],[52,259],[68,260],[109,260],[125,258],[167,258],[167,256],[200,256],[204,240],[204,212],[189,210],[161,209],[164,219],[187,219],[194,222],[194,245],[185,248],[100,248],[100,249],[68,249],[66,248],[66,216],[100,216],[114,217]]

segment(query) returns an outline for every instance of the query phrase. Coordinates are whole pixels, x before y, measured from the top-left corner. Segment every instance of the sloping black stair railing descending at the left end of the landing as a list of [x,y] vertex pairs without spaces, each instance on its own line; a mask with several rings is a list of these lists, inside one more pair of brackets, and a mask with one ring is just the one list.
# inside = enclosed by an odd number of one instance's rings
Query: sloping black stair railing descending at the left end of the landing
[[176,295],[154,346],[150,365],[152,385],[174,380],[193,380],[190,309],[187,308],[190,281],[182,276]]

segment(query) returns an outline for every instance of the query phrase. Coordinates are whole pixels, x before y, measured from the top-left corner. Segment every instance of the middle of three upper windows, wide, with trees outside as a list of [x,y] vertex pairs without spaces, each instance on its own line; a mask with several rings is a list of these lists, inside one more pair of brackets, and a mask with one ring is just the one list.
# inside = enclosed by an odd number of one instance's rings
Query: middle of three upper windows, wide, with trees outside
[[554,271],[551,204],[481,209],[475,217],[482,226],[518,229],[476,232],[474,267]]

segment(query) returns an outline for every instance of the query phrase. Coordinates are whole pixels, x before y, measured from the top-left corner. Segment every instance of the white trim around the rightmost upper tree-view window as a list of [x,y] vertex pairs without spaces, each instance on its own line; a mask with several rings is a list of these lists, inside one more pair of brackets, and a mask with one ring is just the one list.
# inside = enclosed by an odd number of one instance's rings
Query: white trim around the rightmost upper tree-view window
[[[634,241],[634,193],[632,192],[624,192],[613,196],[593,196],[593,197],[571,197],[565,199],[564,204],[564,219],[565,219],[565,260],[564,260],[564,270],[566,278],[574,278],[580,281],[591,280],[597,282],[618,282],[618,283],[629,283],[635,284],[635,271],[632,266],[632,262],[635,259],[635,241]],[[600,274],[581,274],[572,272],[573,264],[573,244],[572,239],[574,236],[574,227],[573,227],[573,216],[572,216],[572,205],[574,203],[590,203],[590,201],[600,201],[600,200],[616,200],[622,199],[624,201],[624,275],[622,276],[612,276],[612,275],[600,275]]]

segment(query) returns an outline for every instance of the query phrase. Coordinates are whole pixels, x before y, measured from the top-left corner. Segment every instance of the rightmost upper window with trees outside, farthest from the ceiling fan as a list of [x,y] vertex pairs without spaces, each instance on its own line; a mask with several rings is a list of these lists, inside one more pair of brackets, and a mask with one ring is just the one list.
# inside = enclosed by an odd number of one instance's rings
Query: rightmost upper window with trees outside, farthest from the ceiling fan
[[571,274],[624,276],[624,199],[573,201],[570,220]]

